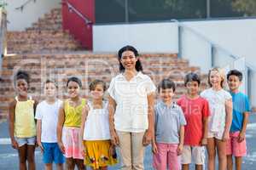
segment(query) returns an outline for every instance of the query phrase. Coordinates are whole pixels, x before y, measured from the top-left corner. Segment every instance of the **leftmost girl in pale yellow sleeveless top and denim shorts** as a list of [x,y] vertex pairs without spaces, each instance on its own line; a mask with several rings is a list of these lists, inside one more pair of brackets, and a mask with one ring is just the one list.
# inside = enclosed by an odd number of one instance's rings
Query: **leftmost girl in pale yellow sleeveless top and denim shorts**
[[[27,94],[29,76],[18,71],[15,76],[15,89],[18,95],[9,105],[9,135],[13,148],[19,152],[20,169],[36,169],[35,144],[36,122],[34,112],[37,101]],[[26,167],[28,162],[28,168]]]

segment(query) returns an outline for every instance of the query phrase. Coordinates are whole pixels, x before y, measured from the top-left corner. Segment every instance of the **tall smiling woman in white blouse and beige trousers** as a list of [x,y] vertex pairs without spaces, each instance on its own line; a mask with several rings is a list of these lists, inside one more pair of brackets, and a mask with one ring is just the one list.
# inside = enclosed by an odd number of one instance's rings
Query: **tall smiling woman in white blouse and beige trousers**
[[143,74],[137,49],[119,49],[120,74],[108,88],[111,140],[119,145],[121,169],[143,169],[144,146],[154,133],[154,91],[150,77]]

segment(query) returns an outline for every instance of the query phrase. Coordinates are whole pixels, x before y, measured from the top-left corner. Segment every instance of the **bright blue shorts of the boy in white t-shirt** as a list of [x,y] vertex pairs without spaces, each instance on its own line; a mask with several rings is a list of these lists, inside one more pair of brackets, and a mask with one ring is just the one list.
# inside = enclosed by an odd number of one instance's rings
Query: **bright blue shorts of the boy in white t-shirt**
[[65,158],[57,143],[42,143],[44,147],[43,161],[44,163],[64,163]]

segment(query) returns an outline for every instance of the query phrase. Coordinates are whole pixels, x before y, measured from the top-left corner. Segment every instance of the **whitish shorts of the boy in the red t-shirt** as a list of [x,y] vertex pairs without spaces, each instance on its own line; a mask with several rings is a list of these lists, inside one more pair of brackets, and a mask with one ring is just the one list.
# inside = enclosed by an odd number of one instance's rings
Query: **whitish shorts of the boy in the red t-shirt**
[[205,159],[204,146],[183,146],[182,164],[190,164],[193,161],[196,165],[204,165]]

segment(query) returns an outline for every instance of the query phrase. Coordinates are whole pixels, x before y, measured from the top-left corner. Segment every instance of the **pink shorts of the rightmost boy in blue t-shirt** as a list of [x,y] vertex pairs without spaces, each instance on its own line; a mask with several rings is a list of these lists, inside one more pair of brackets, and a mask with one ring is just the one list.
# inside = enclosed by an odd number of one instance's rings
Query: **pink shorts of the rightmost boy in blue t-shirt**
[[226,142],[226,153],[228,156],[246,156],[247,155],[247,143],[246,139],[237,142],[240,132],[230,133],[230,139]]

